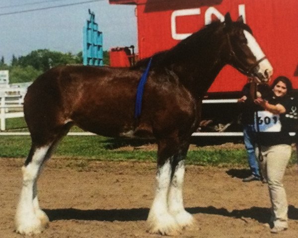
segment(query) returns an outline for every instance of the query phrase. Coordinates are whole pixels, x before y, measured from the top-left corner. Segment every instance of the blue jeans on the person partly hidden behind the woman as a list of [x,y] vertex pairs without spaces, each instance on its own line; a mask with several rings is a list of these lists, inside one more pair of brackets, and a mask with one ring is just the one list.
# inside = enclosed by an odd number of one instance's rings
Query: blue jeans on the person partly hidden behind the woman
[[248,165],[251,170],[251,173],[255,177],[260,177],[259,172],[259,164],[257,162],[256,154],[255,154],[255,140],[256,140],[256,132],[254,129],[254,125],[243,125],[243,139],[244,145],[247,151],[247,159]]

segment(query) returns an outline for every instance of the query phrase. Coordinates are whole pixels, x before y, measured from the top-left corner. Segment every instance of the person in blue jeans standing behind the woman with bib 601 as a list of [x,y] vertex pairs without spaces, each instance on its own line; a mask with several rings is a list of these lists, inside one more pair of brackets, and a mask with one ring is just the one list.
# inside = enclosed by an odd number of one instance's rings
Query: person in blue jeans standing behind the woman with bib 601
[[[243,125],[243,140],[245,149],[247,152],[248,165],[251,171],[251,175],[242,179],[243,182],[250,182],[254,180],[262,180],[259,170],[259,164],[255,154],[256,144],[256,131],[254,129],[254,113],[260,109],[260,106],[253,102],[252,91],[254,86],[251,83],[251,79],[248,79],[248,83],[244,85],[242,89],[242,97],[238,99],[238,103],[241,105],[241,122]],[[258,91],[264,95],[269,93],[268,85],[259,85]],[[263,182],[266,182],[263,180]]]

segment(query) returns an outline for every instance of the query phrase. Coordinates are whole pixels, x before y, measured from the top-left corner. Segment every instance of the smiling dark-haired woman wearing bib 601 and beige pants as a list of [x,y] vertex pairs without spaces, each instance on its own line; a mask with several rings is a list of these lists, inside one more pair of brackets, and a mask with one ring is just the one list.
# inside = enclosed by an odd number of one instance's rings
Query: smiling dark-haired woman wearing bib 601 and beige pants
[[[286,167],[291,157],[291,137],[286,126],[282,125],[283,116],[289,108],[292,83],[285,76],[277,77],[272,86],[272,93],[265,99],[257,98],[255,104],[264,111],[256,113],[258,131],[257,156],[260,150],[262,175],[268,181],[272,204],[271,233],[288,229],[288,202],[282,183]],[[283,129],[284,128],[284,129]]]

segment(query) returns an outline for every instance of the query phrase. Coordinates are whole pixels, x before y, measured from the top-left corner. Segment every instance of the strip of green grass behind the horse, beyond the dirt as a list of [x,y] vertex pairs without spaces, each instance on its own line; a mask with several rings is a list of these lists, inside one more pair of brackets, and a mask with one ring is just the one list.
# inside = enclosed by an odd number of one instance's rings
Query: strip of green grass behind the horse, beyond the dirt
[[[109,161],[156,161],[156,151],[125,150],[122,145],[140,145],[141,142],[111,139],[103,136],[66,136],[54,157]],[[138,144],[139,143],[139,144]],[[30,149],[30,136],[1,136],[0,157],[26,158]],[[115,150],[118,148],[117,150]],[[297,162],[296,152],[290,165]],[[247,166],[245,149],[218,149],[197,147],[187,154],[187,163],[201,166]]]

